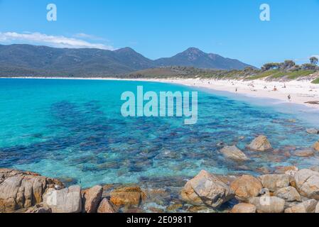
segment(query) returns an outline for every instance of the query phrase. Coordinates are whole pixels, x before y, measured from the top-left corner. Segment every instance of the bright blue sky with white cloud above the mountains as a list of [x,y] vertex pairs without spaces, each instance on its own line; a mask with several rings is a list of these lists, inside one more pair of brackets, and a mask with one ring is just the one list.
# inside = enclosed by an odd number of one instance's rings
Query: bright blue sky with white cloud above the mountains
[[319,0],[0,0],[1,44],[130,47],[153,60],[195,47],[257,67],[303,63],[319,55],[318,27]]

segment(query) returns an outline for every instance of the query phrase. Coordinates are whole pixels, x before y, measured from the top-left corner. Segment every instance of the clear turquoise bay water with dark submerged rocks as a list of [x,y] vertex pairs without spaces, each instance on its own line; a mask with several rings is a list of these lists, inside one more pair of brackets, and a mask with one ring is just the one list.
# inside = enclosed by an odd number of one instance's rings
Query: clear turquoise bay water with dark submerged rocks
[[[284,155],[288,145],[304,148],[318,140],[306,133],[313,121],[305,119],[313,119],[314,113],[298,108],[281,113],[276,105],[199,91],[194,126],[185,126],[182,118],[124,118],[121,93],[134,92],[138,85],[146,91],[191,91],[153,82],[0,79],[0,167],[72,179],[90,187],[193,177],[202,169],[256,174],[260,167],[319,164],[318,157]],[[291,118],[296,123],[288,121]],[[267,135],[280,151],[244,150],[259,134]],[[225,160],[218,153],[220,142],[237,144],[251,160]]]

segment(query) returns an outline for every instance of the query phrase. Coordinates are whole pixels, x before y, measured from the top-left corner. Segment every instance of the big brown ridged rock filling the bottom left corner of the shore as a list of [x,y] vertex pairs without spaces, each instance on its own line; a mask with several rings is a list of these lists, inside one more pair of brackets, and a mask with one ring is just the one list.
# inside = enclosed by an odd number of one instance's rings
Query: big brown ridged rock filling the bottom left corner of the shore
[[43,201],[46,190],[63,186],[57,179],[41,177],[33,172],[0,169],[0,212],[26,209]]

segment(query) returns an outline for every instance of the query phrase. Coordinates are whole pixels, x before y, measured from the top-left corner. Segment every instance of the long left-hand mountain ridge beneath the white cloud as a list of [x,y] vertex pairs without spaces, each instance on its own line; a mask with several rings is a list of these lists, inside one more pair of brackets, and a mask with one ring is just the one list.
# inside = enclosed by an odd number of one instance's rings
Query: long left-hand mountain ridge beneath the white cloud
[[[0,45],[0,76],[107,76],[153,67],[134,50]],[[19,74],[21,72],[21,74]]]

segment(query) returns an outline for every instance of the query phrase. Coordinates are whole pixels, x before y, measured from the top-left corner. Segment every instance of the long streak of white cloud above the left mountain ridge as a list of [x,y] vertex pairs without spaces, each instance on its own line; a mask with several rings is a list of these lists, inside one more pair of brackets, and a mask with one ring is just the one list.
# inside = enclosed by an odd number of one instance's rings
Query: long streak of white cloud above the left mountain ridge
[[102,43],[90,43],[77,38],[67,38],[63,35],[46,35],[43,33],[0,33],[0,42],[2,43],[33,43],[40,45],[50,45],[55,48],[97,48],[103,50],[114,50],[111,45]]

